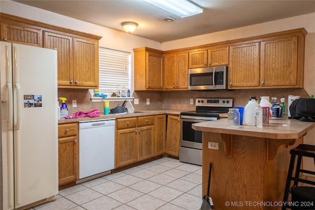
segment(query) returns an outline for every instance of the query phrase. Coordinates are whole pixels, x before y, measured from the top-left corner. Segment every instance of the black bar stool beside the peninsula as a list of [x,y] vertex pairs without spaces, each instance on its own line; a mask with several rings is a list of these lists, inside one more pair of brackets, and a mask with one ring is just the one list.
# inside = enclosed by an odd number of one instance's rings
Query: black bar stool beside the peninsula
[[[290,150],[291,159],[286,178],[284,189],[284,200],[282,210],[286,208],[292,210],[315,210],[315,187],[312,186],[298,186],[299,182],[307,183],[315,186],[315,181],[299,178],[300,173],[315,175],[315,171],[301,169],[302,157],[313,157],[315,165],[315,146],[300,144],[296,148]],[[293,169],[295,163],[295,156],[297,156],[295,175],[293,176]],[[294,181],[290,187],[291,180]],[[291,192],[291,203],[287,202],[289,192]],[[309,203],[307,203],[309,202]],[[313,202],[313,204],[312,204]],[[302,207],[303,206],[303,207]]]

